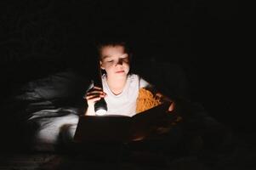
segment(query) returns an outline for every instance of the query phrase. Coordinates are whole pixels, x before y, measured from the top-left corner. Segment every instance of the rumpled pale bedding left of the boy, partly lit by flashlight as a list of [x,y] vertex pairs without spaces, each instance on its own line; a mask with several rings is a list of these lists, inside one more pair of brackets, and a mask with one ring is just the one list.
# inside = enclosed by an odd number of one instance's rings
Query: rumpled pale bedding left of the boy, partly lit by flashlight
[[55,150],[62,131],[71,139],[78,116],[86,107],[82,98],[90,81],[74,71],[62,71],[33,80],[14,90],[9,109],[19,125],[23,144],[31,150]]

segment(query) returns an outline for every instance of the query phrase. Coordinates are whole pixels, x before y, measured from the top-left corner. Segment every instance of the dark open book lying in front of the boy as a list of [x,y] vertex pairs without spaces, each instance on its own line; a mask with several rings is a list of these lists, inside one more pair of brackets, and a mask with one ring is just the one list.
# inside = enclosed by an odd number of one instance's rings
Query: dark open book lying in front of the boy
[[123,142],[151,136],[175,114],[168,112],[169,103],[157,105],[134,116],[80,116],[74,136],[76,142]]

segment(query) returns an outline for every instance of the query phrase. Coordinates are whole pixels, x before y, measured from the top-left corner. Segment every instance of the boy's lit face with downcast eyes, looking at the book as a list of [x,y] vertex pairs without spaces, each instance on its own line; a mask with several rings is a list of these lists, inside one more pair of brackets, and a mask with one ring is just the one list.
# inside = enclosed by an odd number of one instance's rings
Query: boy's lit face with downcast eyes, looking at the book
[[117,45],[101,48],[100,67],[106,71],[108,77],[127,76],[130,65],[124,47]]

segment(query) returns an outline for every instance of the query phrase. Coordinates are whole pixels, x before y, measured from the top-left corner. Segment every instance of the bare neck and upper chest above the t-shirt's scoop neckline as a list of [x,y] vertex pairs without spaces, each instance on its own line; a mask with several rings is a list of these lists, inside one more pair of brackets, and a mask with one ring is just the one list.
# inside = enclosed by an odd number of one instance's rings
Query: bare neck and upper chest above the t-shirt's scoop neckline
[[127,82],[127,77],[106,77],[106,82],[111,89],[111,92],[118,95],[122,93],[122,90]]

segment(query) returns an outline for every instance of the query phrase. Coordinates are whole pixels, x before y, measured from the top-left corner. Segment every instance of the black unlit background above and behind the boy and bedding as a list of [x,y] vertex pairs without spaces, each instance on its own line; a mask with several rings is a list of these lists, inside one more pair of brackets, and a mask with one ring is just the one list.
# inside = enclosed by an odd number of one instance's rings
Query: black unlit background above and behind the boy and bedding
[[133,42],[136,59],[180,65],[191,99],[219,122],[252,131],[248,7],[226,0],[1,1],[1,103],[33,79],[94,69],[94,37],[115,32]]

